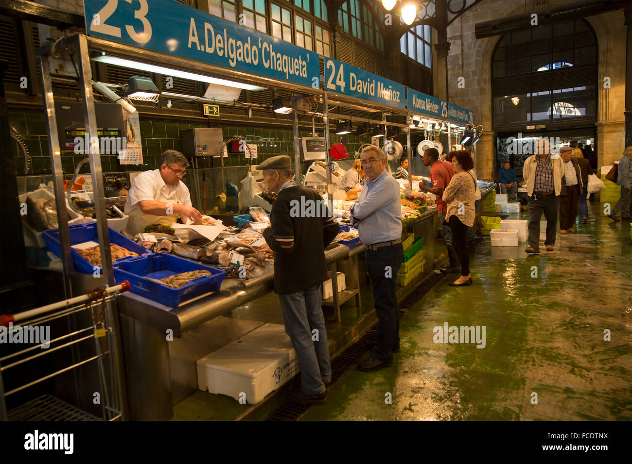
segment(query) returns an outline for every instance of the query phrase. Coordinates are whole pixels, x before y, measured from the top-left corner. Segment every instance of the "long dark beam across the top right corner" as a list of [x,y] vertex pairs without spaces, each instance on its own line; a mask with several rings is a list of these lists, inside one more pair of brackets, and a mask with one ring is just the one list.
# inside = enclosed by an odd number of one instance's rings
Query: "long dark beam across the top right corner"
[[530,13],[506,16],[495,20],[484,21],[475,25],[477,39],[493,37],[507,32],[533,27],[532,15],[538,15],[538,26],[552,25],[562,21],[578,20],[587,16],[600,15],[606,11],[623,9],[630,6],[630,0],[588,0],[566,3],[552,8],[544,8]]

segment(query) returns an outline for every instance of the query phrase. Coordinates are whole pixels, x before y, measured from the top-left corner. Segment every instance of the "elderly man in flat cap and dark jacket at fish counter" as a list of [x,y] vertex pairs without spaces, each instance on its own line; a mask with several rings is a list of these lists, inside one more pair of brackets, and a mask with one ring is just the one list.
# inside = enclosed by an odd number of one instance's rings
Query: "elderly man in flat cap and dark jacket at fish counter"
[[275,253],[274,292],[301,367],[301,389],[289,396],[298,403],[324,403],[331,360],[320,292],[327,280],[325,247],[340,226],[323,207],[322,196],[295,184],[287,155],[269,158],[257,169],[263,170],[267,191],[277,194],[264,238]]

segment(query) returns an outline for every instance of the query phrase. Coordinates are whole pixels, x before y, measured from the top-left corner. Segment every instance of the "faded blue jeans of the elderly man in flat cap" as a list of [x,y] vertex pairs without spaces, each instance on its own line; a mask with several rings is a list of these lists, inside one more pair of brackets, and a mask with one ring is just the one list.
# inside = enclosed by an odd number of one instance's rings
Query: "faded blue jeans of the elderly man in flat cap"
[[[285,331],[292,341],[301,367],[301,391],[318,395],[331,381],[331,359],[325,317],[322,315],[320,284],[288,295],[279,295]],[[312,340],[312,330],[318,330],[318,340]]]

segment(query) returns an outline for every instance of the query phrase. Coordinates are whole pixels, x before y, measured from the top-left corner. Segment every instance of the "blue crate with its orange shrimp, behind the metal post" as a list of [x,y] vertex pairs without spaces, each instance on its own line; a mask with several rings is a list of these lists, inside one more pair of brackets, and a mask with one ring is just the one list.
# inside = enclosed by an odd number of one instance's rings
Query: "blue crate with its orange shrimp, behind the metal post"
[[[145,247],[119,234],[116,230],[107,229],[110,237],[110,249],[112,263],[130,256],[139,256],[151,253]],[[76,224],[68,227],[70,234],[71,253],[75,270],[92,274],[101,269],[101,256],[99,249],[99,232],[97,223]],[[46,247],[57,256],[61,256],[61,244],[59,241],[59,229],[49,229],[42,232],[42,238]],[[118,257],[118,258],[117,258]]]

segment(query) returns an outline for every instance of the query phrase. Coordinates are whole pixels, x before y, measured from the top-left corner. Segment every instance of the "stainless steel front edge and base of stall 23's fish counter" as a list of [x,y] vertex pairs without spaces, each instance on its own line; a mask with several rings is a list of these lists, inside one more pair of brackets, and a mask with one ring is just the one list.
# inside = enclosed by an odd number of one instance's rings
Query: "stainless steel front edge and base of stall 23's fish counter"
[[[363,249],[364,246],[359,246],[353,251],[360,253]],[[333,244],[325,250],[327,265],[348,256],[349,248],[341,244]],[[227,278],[217,294],[176,309],[136,294],[119,299],[130,419],[171,419],[173,405],[197,390],[195,362],[209,352],[207,345],[187,343],[179,337],[184,333],[195,336],[196,331],[203,330],[200,326],[210,319],[272,292],[274,271],[271,263],[269,266],[246,282]],[[234,324],[224,327],[221,337],[222,340],[237,339],[250,330],[252,327],[248,324]],[[217,331],[212,335],[219,336]],[[178,359],[175,359],[176,353]]]

